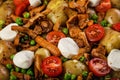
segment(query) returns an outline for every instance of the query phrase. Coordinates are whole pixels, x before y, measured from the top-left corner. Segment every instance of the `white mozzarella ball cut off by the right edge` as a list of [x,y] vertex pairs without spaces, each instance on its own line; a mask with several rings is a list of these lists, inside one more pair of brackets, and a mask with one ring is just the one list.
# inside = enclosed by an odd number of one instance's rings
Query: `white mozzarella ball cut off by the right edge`
[[108,57],[108,65],[114,70],[114,71],[120,71],[120,50],[113,49],[109,53]]

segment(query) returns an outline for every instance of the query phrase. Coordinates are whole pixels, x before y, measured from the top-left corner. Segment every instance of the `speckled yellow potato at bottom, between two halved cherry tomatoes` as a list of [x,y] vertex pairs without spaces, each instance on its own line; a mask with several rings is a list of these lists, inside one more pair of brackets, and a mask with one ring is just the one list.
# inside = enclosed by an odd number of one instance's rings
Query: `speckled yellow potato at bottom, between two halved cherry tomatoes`
[[70,73],[74,75],[80,75],[83,71],[87,70],[85,64],[77,60],[68,60],[63,63],[63,69],[65,73]]

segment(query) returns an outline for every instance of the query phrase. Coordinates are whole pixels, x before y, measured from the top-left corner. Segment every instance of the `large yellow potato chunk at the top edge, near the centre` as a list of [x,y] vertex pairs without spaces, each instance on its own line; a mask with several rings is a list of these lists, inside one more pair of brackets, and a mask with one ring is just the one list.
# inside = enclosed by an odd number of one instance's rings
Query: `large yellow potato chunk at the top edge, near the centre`
[[49,19],[55,24],[60,22],[64,24],[67,20],[67,17],[63,11],[64,7],[68,6],[64,0],[51,0],[47,6],[51,12],[47,15]]

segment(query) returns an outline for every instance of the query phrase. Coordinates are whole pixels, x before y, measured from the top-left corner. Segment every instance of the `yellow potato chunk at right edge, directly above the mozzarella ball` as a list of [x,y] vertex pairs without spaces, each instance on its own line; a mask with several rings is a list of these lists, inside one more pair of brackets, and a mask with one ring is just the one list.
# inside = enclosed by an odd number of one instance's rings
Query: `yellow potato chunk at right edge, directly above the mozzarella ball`
[[112,49],[120,49],[120,33],[106,28],[106,35],[101,40],[101,44],[105,46],[107,52],[109,53]]

